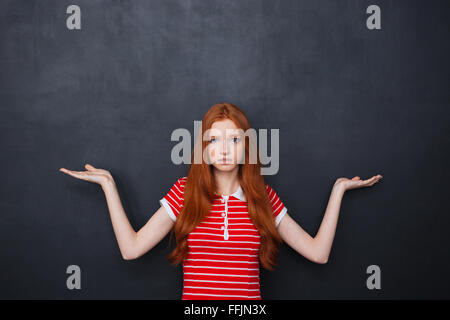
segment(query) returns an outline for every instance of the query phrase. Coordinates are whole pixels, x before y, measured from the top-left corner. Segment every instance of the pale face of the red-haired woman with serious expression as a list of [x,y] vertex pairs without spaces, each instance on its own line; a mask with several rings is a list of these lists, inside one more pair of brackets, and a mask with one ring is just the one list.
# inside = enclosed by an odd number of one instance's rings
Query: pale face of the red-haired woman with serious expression
[[209,163],[220,171],[232,171],[243,163],[245,154],[244,131],[232,120],[224,119],[212,124],[205,139],[209,142],[205,153]]

